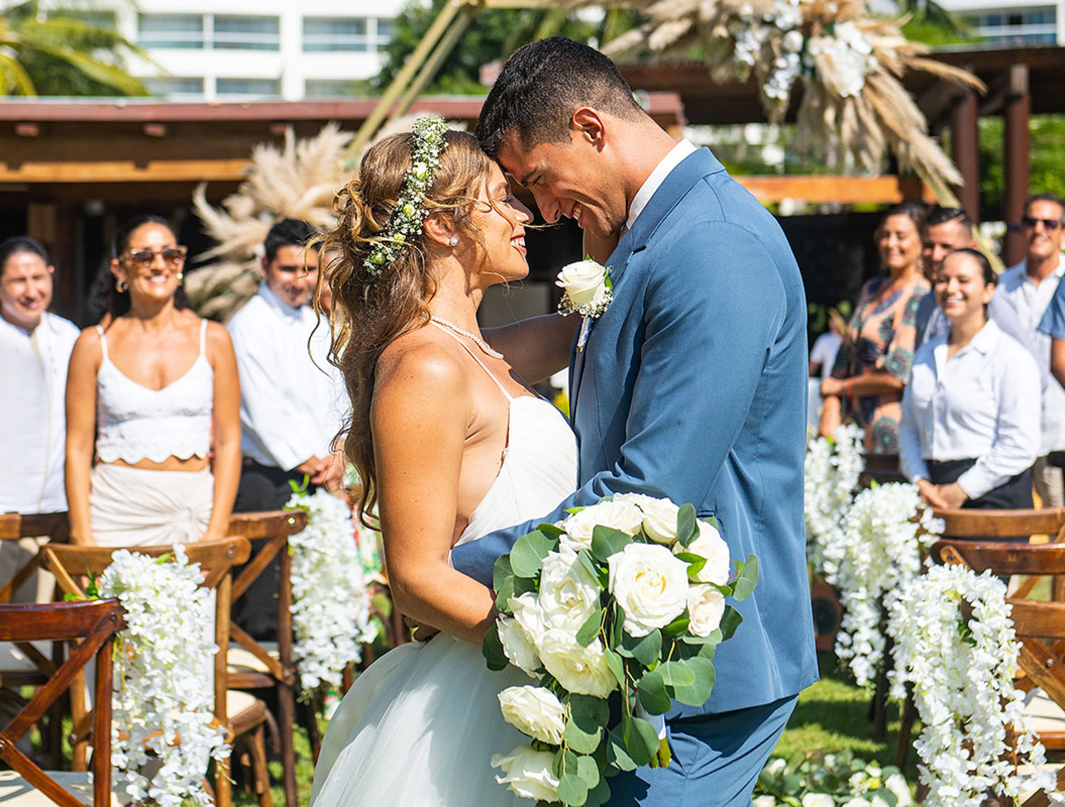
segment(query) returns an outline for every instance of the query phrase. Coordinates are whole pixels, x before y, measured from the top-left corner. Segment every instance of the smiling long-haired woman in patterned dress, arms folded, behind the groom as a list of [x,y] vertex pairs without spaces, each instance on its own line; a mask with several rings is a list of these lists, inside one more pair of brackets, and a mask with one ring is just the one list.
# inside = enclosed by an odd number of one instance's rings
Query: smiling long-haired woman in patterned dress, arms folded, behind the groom
[[845,418],[865,429],[870,454],[899,452],[902,394],[914,361],[915,315],[931,284],[921,271],[924,205],[892,208],[876,229],[887,276],[862,289],[830,378],[818,432],[831,437]]

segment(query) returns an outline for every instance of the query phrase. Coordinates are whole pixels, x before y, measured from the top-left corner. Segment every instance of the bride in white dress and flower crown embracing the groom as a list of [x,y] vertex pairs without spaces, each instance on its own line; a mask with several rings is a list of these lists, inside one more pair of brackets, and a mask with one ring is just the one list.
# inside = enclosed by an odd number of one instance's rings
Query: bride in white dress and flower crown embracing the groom
[[[356,681],[326,732],[311,804],[527,804],[489,760],[522,743],[496,695],[530,680],[487,669],[494,596],[448,556],[545,515],[576,488],[568,422],[522,380],[564,366],[572,327],[548,316],[493,332],[493,345],[479,335],[485,290],[528,274],[531,215],[472,135],[420,118],[374,146],[359,176],[338,194],[323,245],[339,252],[327,275],[354,409],[345,448],[364,480],[362,511],[380,514],[396,606],[442,632]],[[557,345],[547,362],[544,344]]]

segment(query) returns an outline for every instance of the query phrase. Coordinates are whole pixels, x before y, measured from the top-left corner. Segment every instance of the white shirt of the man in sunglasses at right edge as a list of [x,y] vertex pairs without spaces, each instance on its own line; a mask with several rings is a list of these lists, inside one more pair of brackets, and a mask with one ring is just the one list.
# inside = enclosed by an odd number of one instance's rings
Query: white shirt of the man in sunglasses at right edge
[[[1011,266],[999,276],[995,296],[1002,295],[1013,306],[1020,325],[1029,334],[1029,344],[1044,373],[1050,368],[1050,336],[1039,331],[1043,315],[1053,300],[1062,276],[1065,260],[1058,261],[1058,268],[1038,285],[1029,277],[1026,262]],[[1039,456],[1065,448],[1065,390],[1061,384],[1047,383],[1043,388],[1043,440]]]

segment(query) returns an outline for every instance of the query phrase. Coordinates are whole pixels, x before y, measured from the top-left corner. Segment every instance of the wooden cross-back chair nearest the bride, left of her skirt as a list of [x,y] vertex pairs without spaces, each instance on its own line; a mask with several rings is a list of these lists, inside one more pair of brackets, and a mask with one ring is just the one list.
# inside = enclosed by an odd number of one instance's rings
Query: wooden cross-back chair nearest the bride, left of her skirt
[[[295,727],[296,669],[292,661],[292,557],[289,537],[307,526],[306,510],[233,513],[228,536],[251,542],[251,560],[233,581],[230,604],[236,603],[278,559],[277,641],[257,642],[235,624],[230,626],[229,686],[239,690],[274,689],[278,702],[281,770],[286,807],[297,807]],[[313,715],[311,715],[313,721]],[[308,726],[317,759],[317,727]]]

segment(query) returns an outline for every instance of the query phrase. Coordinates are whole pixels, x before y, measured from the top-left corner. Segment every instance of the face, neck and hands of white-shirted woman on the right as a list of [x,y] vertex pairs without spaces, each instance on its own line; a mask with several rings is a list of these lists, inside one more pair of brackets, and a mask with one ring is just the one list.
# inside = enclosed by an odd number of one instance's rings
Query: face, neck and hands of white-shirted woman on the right
[[[947,336],[947,361],[969,344],[987,324],[986,307],[995,293],[995,284],[984,280],[983,266],[970,254],[953,253],[944,259],[936,273],[932,294],[943,313],[950,319]],[[957,482],[933,484],[919,479],[917,488],[932,507],[956,510],[969,496]]]

